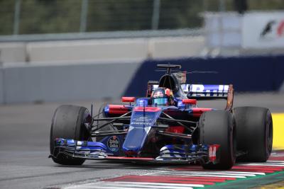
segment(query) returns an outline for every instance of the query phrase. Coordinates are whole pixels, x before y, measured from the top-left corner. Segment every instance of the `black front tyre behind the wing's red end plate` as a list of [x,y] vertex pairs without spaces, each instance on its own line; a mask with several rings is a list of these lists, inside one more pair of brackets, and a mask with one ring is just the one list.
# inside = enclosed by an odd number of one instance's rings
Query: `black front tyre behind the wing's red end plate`
[[205,169],[230,169],[236,161],[236,130],[231,113],[225,110],[212,110],[200,117],[201,144],[219,144],[218,164],[203,164]]

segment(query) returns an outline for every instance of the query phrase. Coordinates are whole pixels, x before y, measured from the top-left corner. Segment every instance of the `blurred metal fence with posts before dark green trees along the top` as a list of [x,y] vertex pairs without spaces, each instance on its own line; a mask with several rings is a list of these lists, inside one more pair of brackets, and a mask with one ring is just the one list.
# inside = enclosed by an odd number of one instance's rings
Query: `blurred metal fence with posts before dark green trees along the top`
[[284,8],[283,0],[0,0],[0,35],[200,28],[202,12],[240,6]]

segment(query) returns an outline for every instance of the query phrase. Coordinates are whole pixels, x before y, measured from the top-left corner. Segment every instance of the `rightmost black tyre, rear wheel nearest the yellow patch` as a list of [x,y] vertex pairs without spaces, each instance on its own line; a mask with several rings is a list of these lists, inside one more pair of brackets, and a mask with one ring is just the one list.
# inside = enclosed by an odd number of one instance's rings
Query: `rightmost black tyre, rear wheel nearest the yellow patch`
[[265,162],[272,151],[273,122],[267,108],[234,108],[236,148],[246,154],[238,161]]

